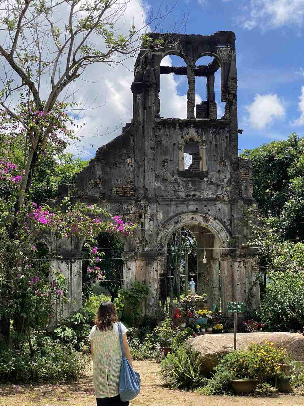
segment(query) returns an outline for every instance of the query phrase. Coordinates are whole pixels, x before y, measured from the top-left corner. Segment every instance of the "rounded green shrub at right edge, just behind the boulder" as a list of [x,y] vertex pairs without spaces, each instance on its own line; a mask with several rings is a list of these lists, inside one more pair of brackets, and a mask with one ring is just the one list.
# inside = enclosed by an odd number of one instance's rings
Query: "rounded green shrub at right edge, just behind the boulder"
[[273,272],[261,303],[261,321],[274,331],[297,331],[304,325],[304,274]]

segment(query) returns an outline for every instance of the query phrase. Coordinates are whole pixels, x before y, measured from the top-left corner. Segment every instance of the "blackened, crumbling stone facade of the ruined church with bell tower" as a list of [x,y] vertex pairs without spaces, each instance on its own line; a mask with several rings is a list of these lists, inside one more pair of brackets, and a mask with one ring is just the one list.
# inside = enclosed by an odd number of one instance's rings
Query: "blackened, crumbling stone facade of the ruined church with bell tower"
[[[179,227],[188,228],[197,239],[198,291],[208,293],[210,303],[218,303],[221,296],[223,309],[227,301],[244,300],[249,294],[257,308],[256,257],[247,249],[235,249],[247,240],[243,209],[254,203],[251,164],[238,158],[235,35],[220,31],[210,36],[150,37],[163,37],[166,46],[155,50],[152,42],[139,54],[131,86],[133,119],[120,136],[96,151],[76,186],[83,202],[100,204],[139,225],[126,240],[124,283],[139,280],[150,287],[147,314],[153,315],[158,305],[167,242]],[[169,54],[181,56],[187,67],[161,67]],[[212,63],[195,67],[205,55],[214,57]],[[216,117],[214,100],[214,72],[219,68],[222,118]],[[160,117],[160,75],[167,73],[187,75],[187,119]],[[196,117],[195,76],[207,78],[207,100],[196,107]],[[193,153],[193,164],[186,170],[184,152]],[[79,278],[77,283],[71,297],[81,292]]]

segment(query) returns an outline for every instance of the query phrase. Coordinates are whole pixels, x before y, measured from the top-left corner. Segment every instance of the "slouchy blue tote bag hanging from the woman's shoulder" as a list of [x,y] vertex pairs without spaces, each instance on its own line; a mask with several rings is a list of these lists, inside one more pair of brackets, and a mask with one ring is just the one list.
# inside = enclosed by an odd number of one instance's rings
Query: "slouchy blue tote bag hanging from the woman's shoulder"
[[140,391],[140,376],[131,367],[129,361],[126,359],[124,352],[124,343],[122,342],[121,325],[118,323],[120,347],[122,353],[122,363],[120,367],[120,376],[118,384],[118,392],[122,402],[134,399]]

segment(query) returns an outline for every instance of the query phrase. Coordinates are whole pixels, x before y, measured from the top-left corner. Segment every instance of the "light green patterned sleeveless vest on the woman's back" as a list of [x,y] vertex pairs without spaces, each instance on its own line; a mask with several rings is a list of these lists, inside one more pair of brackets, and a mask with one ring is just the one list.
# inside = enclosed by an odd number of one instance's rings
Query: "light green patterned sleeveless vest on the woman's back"
[[96,398],[118,395],[122,354],[120,341],[112,330],[93,333],[93,382]]

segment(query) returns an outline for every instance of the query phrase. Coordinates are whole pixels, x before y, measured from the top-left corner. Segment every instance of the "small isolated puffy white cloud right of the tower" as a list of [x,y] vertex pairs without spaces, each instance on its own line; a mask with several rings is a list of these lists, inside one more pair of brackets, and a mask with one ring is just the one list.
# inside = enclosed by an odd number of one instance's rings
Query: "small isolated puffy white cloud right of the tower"
[[280,101],[278,95],[255,95],[255,99],[250,106],[245,109],[249,113],[249,122],[253,128],[261,130],[267,125],[271,126],[275,119],[285,117],[285,106]]

